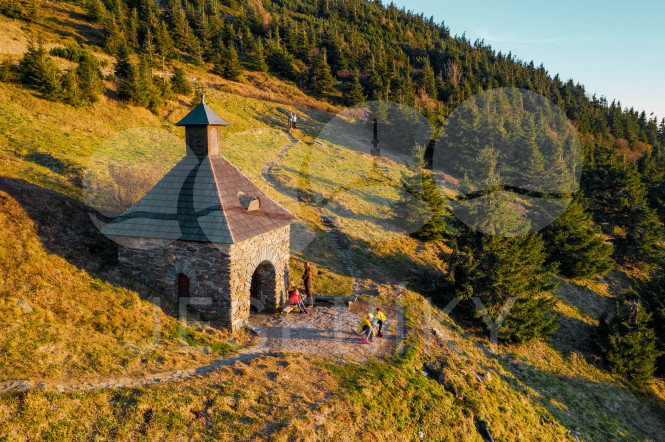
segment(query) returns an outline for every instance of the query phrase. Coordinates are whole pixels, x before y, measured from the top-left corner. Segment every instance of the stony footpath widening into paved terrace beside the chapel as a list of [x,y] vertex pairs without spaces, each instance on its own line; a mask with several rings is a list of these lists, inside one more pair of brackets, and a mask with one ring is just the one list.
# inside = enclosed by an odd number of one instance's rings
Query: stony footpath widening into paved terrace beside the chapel
[[[278,164],[289,149],[297,145],[300,140],[289,131],[285,131],[291,142],[287,144],[263,170],[263,177],[280,190],[275,179]],[[321,217],[330,241],[337,249],[344,267],[352,277],[353,297],[357,298],[363,293],[359,281],[360,271],[351,258],[350,251],[341,241],[341,232],[335,225],[333,217],[323,215],[321,209],[310,205]],[[106,388],[137,388],[151,384],[183,380],[196,376],[205,376],[208,373],[224,366],[237,363],[247,363],[260,356],[274,355],[279,352],[310,353],[331,358],[337,362],[360,363],[370,357],[381,357],[391,354],[400,344],[401,336],[395,334],[395,323],[388,321],[384,328],[383,338],[375,338],[371,345],[363,344],[355,330],[362,315],[373,310],[373,306],[362,301],[352,301],[348,305],[344,301],[330,303],[317,303],[310,309],[309,314],[292,312],[283,315],[257,314],[250,318],[251,327],[258,335],[255,346],[243,349],[235,355],[214,361],[210,364],[192,367],[186,370],[173,370],[163,373],[147,375],[141,378],[105,378],[84,382],[60,381],[54,383],[32,382],[26,379],[16,379],[0,382],[0,394],[11,392],[26,392],[33,389],[57,392],[84,392],[102,390]],[[386,312],[394,318],[393,312]]]

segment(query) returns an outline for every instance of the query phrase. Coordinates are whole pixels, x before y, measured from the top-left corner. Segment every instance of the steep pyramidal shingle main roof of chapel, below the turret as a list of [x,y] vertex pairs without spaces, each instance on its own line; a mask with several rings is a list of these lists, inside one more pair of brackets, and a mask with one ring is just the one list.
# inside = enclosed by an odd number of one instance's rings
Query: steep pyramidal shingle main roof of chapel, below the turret
[[[243,208],[247,195],[258,209]],[[296,221],[223,157],[186,156],[102,233],[230,244]]]

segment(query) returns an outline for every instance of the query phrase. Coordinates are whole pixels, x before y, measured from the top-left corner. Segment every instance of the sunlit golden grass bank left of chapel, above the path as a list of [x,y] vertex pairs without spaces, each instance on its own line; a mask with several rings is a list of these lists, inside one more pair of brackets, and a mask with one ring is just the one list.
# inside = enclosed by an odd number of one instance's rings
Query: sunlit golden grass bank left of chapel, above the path
[[[19,299],[33,311],[24,312]],[[2,380],[66,383],[138,376],[200,365],[231,350],[217,331],[183,327],[181,342],[179,323],[135,292],[46,253],[32,220],[5,192],[0,192],[0,320]],[[204,355],[205,346],[215,351]]]

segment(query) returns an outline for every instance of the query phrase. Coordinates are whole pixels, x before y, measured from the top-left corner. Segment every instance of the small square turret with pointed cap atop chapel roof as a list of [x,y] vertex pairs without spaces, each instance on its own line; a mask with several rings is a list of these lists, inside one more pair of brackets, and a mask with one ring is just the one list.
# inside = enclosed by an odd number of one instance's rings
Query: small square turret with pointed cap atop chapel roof
[[185,126],[187,155],[195,155],[199,160],[208,155],[219,155],[220,128],[229,123],[222,120],[203,99],[176,126]]

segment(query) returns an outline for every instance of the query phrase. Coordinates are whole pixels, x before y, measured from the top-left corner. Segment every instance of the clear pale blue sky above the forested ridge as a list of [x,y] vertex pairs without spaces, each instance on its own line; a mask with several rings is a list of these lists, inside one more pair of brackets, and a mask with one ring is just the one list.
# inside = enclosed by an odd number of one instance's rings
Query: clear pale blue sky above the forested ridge
[[443,21],[453,36],[466,33],[471,42],[543,63],[551,76],[572,78],[588,95],[665,117],[663,0],[393,1]]

